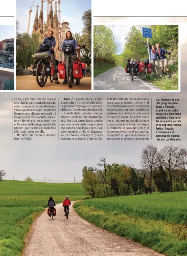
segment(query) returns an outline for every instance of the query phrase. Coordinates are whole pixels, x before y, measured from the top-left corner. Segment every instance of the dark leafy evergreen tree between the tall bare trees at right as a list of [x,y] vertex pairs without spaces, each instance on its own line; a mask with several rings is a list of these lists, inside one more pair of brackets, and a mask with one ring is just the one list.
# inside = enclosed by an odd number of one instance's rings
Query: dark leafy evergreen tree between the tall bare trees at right
[[167,175],[162,165],[159,166],[159,172],[153,174],[153,179],[161,193],[169,192],[169,181],[167,180]]

